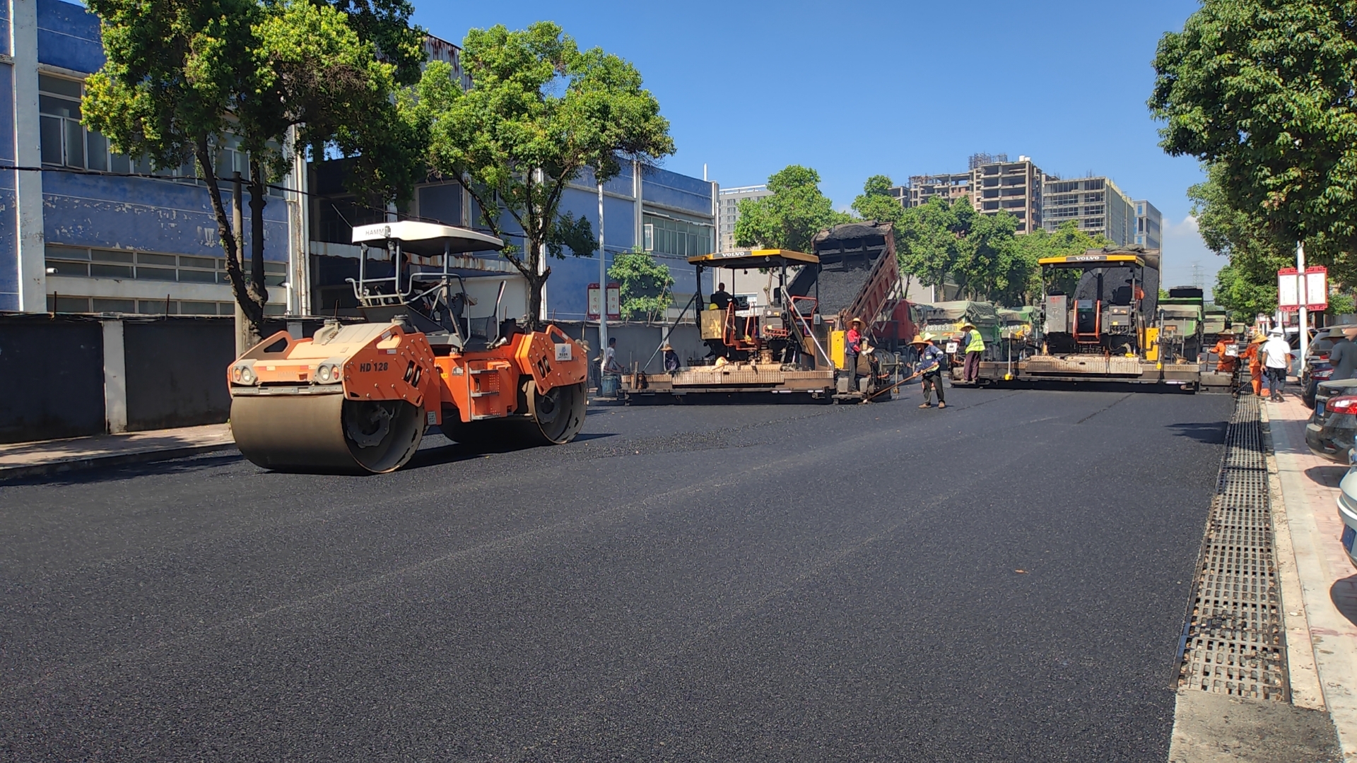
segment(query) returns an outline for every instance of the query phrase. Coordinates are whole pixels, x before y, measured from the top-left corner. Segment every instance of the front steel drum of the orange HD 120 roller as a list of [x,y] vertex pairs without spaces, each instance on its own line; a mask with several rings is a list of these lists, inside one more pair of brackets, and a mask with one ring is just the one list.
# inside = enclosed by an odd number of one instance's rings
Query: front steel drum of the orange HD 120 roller
[[410,460],[423,411],[403,401],[343,395],[239,395],[231,433],[240,452],[275,471],[380,474]]

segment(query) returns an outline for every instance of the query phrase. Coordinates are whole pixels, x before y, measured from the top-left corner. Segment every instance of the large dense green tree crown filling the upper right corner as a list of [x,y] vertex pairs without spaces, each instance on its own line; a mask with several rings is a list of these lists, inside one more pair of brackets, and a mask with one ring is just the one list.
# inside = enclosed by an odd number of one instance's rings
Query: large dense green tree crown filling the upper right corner
[[[1219,172],[1229,208],[1349,280],[1357,243],[1357,7],[1205,0],[1155,56],[1164,151]],[[1235,265],[1232,262],[1232,265]]]

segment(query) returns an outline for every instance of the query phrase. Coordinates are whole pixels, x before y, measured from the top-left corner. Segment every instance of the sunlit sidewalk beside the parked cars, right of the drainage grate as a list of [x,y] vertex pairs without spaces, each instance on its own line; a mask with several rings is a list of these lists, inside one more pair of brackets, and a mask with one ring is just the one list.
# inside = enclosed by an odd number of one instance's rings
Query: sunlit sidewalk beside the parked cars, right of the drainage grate
[[[1274,506],[1274,535],[1288,653],[1296,653],[1291,658],[1292,694],[1297,705],[1322,702],[1327,707],[1343,760],[1357,762],[1357,569],[1339,542],[1343,524],[1337,508],[1338,481],[1348,468],[1310,452],[1305,421],[1311,411],[1289,392],[1285,402],[1265,403],[1263,414],[1270,422],[1282,498],[1282,505]],[[1293,555],[1285,547],[1288,531]],[[1295,603],[1297,580],[1303,608]],[[1303,644],[1307,633],[1310,644]],[[1311,645],[1312,667],[1305,664]],[[1316,677],[1322,696],[1314,696],[1311,688]]]

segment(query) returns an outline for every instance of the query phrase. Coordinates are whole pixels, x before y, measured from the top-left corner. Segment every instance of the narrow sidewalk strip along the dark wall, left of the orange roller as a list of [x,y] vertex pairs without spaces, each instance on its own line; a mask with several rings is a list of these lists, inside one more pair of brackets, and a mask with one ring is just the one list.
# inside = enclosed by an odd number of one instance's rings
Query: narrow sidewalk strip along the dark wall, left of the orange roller
[[235,449],[235,447],[231,426],[227,424],[16,443],[0,445],[0,479],[159,462],[208,451]]

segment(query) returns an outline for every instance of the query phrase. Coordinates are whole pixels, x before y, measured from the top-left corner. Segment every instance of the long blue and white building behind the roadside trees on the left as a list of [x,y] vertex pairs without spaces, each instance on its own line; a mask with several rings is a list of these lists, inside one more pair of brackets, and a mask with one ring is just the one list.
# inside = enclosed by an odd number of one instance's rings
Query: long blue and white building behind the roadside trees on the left
[[[430,38],[426,50],[452,62],[467,84],[455,45]],[[99,22],[84,7],[0,0],[0,311],[231,315],[217,223],[194,166],[156,171],[144,159],[113,153],[103,136],[81,126],[83,81],[102,65]],[[218,176],[248,175],[246,164],[229,141],[218,148]],[[296,167],[278,183],[288,190],[270,191],[271,314],[328,314],[342,304],[351,293],[345,278],[356,270],[351,225],[387,216],[354,204],[328,164]],[[719,240],[716,190],[664,168],[626,166],[604,187],[608,263],[636,246],[653,251],[670,267],[681,305],[697,288],[687,257]],[[224,202],[229,208],[229,193]],[[597,231],[589,172],[566,191],[562,210]],[[421,185],[404,212],[456,225],[476,217],[456,183]],[[510,272],[503,265],[486,262],[487,270]],[[597,257],[550,265],[546,318],[584,319]]]

